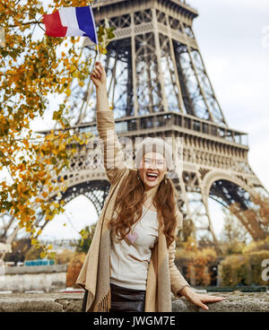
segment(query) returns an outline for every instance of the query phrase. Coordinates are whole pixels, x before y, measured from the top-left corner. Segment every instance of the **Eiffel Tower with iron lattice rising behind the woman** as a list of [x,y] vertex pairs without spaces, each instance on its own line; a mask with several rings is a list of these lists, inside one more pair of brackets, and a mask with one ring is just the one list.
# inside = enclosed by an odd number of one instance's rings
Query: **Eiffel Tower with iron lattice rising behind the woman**
[[[248,164],[247,134],[228,126],[213,91],[193,30],[197,11],[179,0],[100,0],[92,10],[97,26],[106,18],[115,27],[115,39],[100,61],[119,138],[134,143],[137,137],[169,136],[174,147],[178,138],[183,143],[183,167],[173,181],[178,206],[194,221],[196,236],[206,233],[218,244],[210,197],[227,208],[236,205],[233,213],[252,238],[264,239],[263,219],[258,213],[246,217],[245,211],[254,205],[253,195],[268,192]],[[88,55],[95,53],[89,49],[85,44]],[[74,128],[97,134],[94,106]],[[132,162],[134,154],[126,158]],[[65,203],[86,195],[100,214],[109,189],[101,159],[94,143],[80,147],[65,173]]]

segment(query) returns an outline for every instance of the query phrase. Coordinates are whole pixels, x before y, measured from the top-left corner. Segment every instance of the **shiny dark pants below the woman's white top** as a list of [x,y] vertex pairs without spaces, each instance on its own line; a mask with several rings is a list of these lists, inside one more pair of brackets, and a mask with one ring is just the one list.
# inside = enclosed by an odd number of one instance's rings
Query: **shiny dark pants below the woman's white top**
[[115,312],[143,312],[145,303],[145,291],[128,289],[110,283],[111,308],[110,313]]

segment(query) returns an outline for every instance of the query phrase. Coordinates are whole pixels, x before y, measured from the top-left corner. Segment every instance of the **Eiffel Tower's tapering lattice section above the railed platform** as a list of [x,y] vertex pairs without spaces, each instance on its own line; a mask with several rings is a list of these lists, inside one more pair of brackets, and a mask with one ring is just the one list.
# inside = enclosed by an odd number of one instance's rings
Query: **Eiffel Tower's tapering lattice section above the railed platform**
[[115,28],[105,65],[116,117],[176,111],[227,126],[192,27],[197,11],[179,0],[102,0],[97,25]]

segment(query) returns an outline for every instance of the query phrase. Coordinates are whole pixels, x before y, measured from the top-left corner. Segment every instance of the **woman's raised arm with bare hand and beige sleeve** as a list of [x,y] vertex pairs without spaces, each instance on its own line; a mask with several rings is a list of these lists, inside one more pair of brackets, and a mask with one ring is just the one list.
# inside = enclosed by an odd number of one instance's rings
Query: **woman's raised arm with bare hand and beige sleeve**
[[109,109],[106,72],[100,62],[96,62],[94,66],[91,81],[96,87],[96,121],[98,133],[104,147],[104,167],[112,184],[117,182],[117,179],[126,170],[126,162],[124,161],[121,145],[117,139],[114,113]]

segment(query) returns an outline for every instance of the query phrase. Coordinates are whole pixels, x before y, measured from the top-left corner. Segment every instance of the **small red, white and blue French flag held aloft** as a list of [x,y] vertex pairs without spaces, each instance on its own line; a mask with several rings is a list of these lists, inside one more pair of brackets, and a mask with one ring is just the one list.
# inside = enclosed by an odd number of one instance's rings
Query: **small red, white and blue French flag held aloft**
[[98,44],[91,5],[64,7],[51,14],[43,15],[46,34],[51,37],[89,37]]

